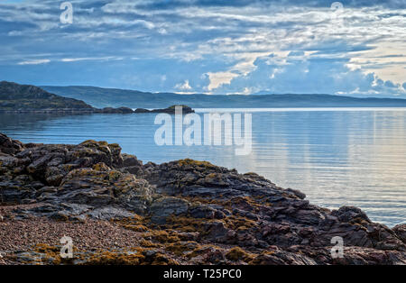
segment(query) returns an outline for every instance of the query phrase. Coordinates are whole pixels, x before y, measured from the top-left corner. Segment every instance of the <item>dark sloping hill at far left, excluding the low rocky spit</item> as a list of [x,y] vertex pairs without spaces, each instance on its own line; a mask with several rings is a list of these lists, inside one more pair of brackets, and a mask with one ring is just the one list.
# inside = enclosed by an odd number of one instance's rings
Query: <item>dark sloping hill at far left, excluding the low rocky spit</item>
[[40,87],[0,82],[0,111],[92,111],[83,101],[53,95]]

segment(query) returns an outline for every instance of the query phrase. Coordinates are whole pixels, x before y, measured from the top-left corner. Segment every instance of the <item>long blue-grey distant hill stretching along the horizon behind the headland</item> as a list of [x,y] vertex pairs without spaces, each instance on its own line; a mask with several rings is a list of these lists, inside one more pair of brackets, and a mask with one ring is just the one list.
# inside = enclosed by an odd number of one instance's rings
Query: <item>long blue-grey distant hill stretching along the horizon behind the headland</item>
[[209,96],[149,93],[102,87],[42,87],[59,96],[83,100],[95,107],[161,108],[189,105],[192,108],[262,107],[406,107],[406,99],[355,98],[330,95]]

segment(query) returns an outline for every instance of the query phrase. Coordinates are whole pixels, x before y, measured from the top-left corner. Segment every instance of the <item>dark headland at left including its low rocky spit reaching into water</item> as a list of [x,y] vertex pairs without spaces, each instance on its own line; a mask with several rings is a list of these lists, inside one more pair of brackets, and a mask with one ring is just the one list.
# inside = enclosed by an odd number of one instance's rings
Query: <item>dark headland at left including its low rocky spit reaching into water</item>
[[[51,94],[40,87],[0,82],[0,113],[5,114],[175,114],[175,106],[178,105],[154,110],[143,108],[133,110],[128,107],[98,109],[78,99]],[[184,114],[194,113],[189,106],[180,106]]]

